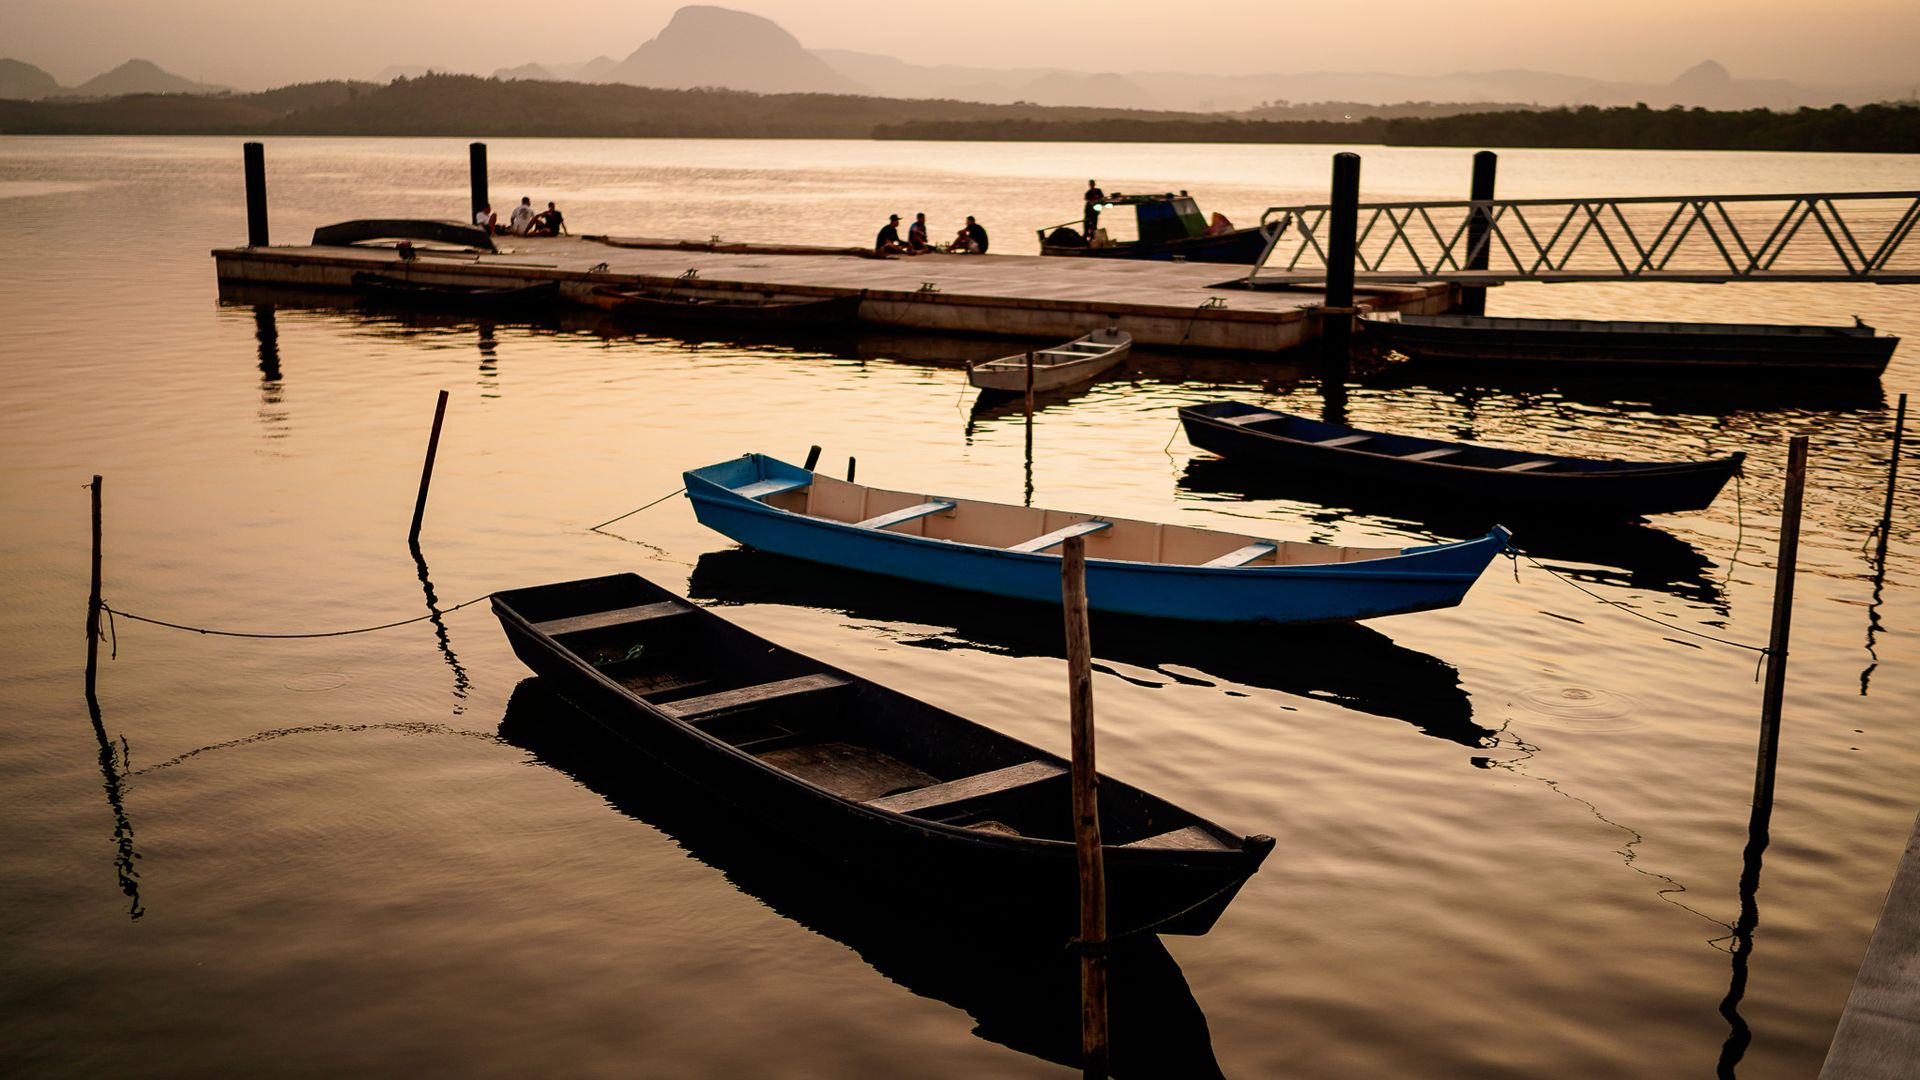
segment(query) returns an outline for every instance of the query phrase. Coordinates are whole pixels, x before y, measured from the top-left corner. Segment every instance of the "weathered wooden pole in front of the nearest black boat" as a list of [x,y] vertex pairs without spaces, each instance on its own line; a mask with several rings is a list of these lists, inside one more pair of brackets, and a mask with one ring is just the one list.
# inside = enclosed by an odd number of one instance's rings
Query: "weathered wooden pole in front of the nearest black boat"
[[1060,598],[1068,621],[1068,701],[1073,717],[1073,847],[1079,855],[1081,1074],[1104,1078],[1106,861],[1100,851],[1100,778],[1092,759],[1092,634],[1087,628],[1087,542],[1062,546]]

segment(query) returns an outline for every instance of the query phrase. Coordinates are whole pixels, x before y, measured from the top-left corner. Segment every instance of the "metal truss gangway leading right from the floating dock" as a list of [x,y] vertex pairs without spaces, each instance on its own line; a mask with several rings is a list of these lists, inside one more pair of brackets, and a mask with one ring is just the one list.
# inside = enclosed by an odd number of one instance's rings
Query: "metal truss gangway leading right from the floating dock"
[[[1327,281],[1334,204],[1275,206],[1246,284]],[[1920,190],[1363,202],[1356,281],[1920,282]]]

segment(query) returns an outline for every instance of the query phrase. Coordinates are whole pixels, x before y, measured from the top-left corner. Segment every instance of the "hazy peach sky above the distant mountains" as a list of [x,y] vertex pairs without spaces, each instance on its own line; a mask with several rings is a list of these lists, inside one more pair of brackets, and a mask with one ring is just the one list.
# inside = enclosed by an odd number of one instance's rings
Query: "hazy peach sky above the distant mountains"
[[[0,56],[75,85],[129,58],[242,88],[390,63],[490,73],[622,60],[682,0],[0,0]],[[1920,0],[739,0],[808,48],[916,63],[1079,71],[1446,71],[1528,67],[1659,81],[1920,83]]]

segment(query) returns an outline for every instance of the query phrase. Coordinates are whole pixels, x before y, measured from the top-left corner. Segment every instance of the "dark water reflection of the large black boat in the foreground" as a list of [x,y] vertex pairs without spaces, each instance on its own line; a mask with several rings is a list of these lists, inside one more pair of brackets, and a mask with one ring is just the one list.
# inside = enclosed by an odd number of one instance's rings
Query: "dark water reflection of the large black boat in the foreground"
[[[1058,1065],[1079,1065],[1079,957],[1058,936],[987,932],[964,920],[929,924],[822,872],[812,849],[768,834],[703,788],[659,765],[572,707],[538,678],[515,686],[499,736],[674,838],[755,899],[845,944],[906,990],[962,1009],[973,1034]],[[1206,1015],[1160,938],[1114,944],[1108,959],[1114,1076],[1221,1076]]]

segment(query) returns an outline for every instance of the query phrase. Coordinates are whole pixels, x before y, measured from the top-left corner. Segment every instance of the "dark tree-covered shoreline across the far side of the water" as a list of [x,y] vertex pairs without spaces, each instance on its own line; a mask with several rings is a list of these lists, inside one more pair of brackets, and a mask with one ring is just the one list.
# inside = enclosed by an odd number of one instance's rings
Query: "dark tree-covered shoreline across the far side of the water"
[[1715,111],[1572,108],[1344,119],[1227,119],[1079,106],[753,94],[426,75],[261,94],[0,100],[6,135],[409,135],[580,138],[916,138],[1313,142],[1630,150],[1920,150],[1920,104]]

